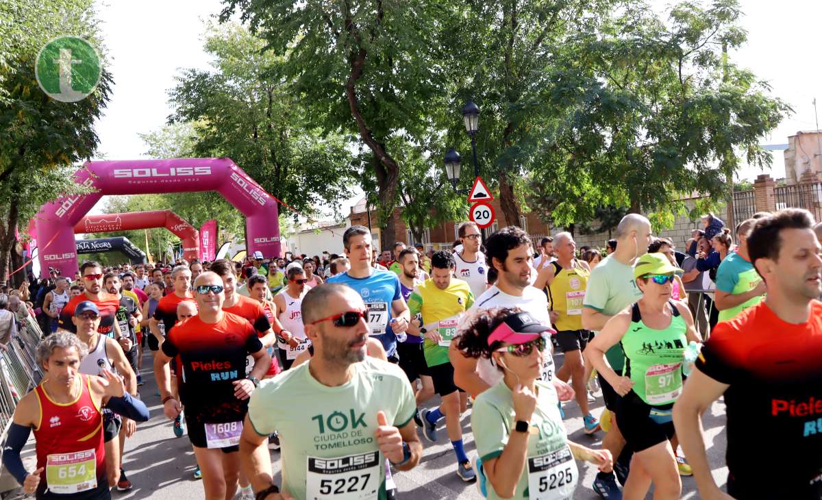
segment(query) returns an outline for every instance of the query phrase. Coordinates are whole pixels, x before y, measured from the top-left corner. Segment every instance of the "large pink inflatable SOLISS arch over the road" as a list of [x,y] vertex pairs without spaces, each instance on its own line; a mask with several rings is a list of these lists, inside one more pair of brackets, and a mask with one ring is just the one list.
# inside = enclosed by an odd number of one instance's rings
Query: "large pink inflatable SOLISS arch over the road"
[[[74,174],[96,191],[62,197],[35,216],[41,272],[52,266],[62,275],[77,271],[74,226],[104,195],[216,191],[246,216],[246,248],[280,257],[277,201],[229,158],[89,161]],[[44,271],[43,271],[44,270]]]

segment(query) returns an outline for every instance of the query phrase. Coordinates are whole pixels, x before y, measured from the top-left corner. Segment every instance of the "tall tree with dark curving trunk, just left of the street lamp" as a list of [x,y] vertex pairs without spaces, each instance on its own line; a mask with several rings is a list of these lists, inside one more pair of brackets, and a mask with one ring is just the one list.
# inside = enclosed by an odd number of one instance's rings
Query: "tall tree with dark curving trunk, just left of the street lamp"
[[329,132],[356,134],[371,152],[382,245],[396,239],[393,213],[400,164],[392,140],[421,143],[431,113],[446,109],[446,74],[437,34],[450,2],[228,0],[266,49],[284,57],[282,74],[309,116]]

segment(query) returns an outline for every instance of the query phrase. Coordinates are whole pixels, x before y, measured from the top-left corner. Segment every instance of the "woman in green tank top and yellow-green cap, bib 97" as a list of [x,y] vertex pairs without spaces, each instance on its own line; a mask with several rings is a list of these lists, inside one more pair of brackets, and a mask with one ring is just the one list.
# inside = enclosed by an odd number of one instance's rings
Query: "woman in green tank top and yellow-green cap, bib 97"
[[[680,498],[677,442],[671,409],[682,389],[682,363],[688,342],[701,339],[685,303],[671,299],[677,268],[661,253],[646,253],[634,267],[642,299],[612,317],[588,345],[589,359],[621,399],[617,423],[634,450],[623,498]],[[625,375],[605,359],[621,345]]]

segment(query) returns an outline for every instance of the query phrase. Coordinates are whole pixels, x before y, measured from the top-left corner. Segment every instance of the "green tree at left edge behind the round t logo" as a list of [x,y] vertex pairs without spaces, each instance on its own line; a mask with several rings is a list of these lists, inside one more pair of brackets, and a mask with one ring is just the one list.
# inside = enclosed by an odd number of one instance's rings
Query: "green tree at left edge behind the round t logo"
[[0,36],[0,281],[7,278],[18,225],[45,202],[81,192],[71,165],[89,159],[98,145],[94,123],[109,101],[111,74],[103,69],[94,93],[75,103],[51,99],[35,80],[39,49],[55,35],[86,39],[105,67],[93,3],[4,3],[2,13],[14,14],[16,25],[0,21],[4,34],[11,33]]

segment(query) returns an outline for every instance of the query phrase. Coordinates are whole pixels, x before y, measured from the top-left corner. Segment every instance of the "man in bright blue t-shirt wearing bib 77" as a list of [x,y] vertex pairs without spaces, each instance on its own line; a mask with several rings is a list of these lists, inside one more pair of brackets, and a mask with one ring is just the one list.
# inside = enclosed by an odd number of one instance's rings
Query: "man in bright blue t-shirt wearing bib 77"
[[360,294],[368,308],[371,336],[380,340],[388,360],[397,363],[397,334],[408,329],[410,312],[400,291],[397,275],[390,271],[378,271],[371,266],[371,241],[371,233],[361,225],[346,229],[343,247],[351,268],[330,277],[328,282],[348,285]]

